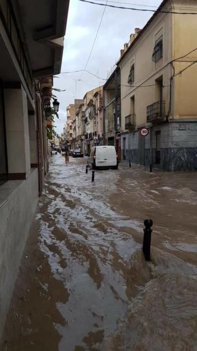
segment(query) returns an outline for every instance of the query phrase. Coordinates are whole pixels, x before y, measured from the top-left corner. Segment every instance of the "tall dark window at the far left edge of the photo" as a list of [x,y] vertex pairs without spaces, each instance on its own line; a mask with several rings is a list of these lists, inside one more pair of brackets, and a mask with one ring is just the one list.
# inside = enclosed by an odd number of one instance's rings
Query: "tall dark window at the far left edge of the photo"
[[7,181],[7,153],[3,108],[3,88],[0,83],[0,185]]

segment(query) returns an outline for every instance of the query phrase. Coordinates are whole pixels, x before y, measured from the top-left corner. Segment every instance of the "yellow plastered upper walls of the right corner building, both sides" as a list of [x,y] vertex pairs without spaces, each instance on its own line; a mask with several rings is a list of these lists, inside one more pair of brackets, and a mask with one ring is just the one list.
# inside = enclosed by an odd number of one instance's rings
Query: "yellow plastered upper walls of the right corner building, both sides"
[[[166,9],[174,12],[197,12],[197,1],[168,1]],[[171,61],[197,48],[197,16],[196,15],[157,15],[131,50],[119,63],[121,69],[121,131],[125,131],[125,116],[133,113],[130,98],[134,96],[136,127],[145,126],[146,107],[159,101],[156,79],[163,79],[163,101],[165,115],[169,109],[169,84],[173,75]],[[151,60],[155,40],[163,36],[163,57],[154,63]],[[197,60],[197,50],[174,62],[175,73]],[[186,62],[185,62],[186,61]],[[131,65],[135,65],[135,80],[130,87],[127,83]],[[197,63],[176,76],[172,84],[172,103],[169,114],[171,118],[197,118]],[[138,87],[138,85],[146,87]],[[147,87],[147,85],[152,85]]]

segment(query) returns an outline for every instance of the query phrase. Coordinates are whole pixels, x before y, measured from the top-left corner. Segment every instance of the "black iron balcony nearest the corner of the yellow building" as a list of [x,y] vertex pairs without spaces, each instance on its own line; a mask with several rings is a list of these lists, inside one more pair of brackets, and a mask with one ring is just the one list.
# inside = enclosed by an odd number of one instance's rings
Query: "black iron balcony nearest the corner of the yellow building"
[[161,123],[165,116],[165,102],[157,101],[146,107],[147,122],[156,124]]

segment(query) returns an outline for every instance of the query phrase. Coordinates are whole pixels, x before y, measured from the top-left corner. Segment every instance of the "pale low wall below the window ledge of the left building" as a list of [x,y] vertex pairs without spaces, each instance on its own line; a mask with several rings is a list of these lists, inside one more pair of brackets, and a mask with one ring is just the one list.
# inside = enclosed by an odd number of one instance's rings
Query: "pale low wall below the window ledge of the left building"
[[0,187],[0,336],[38,200],[37,169]]

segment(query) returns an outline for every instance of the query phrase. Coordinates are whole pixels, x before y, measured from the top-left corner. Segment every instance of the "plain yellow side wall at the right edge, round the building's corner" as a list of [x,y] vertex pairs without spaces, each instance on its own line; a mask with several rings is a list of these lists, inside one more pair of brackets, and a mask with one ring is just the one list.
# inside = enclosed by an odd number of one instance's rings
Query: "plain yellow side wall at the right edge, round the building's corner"
[[[183,7],[183,3],[185,4]],[[184,12],[197,12],[196,1],[175,2],[174,9]],[[175,15],[173,17],[173,56],[181,57],[197,48],[197,17],[196,15]],[[197,60],[197,50],[180,62],[174,63],[175,74]],[[172,112],[174,118],[197,118],[197,63],[186,69],[173,80],[174,99]]]

